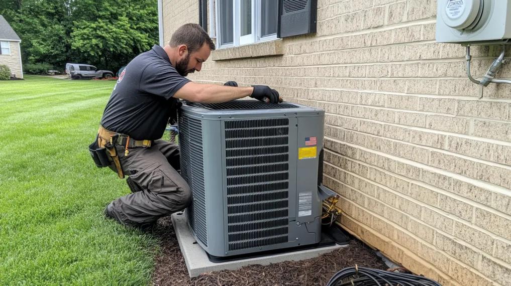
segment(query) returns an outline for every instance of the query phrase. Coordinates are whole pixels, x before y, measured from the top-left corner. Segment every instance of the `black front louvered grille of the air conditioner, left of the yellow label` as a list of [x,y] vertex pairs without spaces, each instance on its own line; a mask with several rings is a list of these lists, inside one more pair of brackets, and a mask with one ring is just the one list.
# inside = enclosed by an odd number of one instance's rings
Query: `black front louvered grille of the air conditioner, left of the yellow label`
[[225,122],[230,251],[288,242],[288,142],[288,118]]

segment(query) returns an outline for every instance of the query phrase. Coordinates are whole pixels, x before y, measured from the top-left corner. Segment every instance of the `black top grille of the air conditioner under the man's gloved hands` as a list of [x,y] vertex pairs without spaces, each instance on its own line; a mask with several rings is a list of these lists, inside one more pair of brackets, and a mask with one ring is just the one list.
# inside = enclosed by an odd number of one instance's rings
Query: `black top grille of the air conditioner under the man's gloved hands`
[[276,108],[296,108],[295,104],[291,103],[265,103],[259,100],[233,100],[223,103],[196,103],[188,102],[187,105],[202,107],[209,110],[245,110],[245,109],[276,109]]

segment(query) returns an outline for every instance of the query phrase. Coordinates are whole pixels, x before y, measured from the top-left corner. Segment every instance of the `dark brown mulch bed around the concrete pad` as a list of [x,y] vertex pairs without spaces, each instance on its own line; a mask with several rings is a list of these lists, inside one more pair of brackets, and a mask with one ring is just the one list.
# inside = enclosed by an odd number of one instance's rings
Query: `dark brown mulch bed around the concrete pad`
[[373,250],[353,239],[349,246],[316,258],[252,265],[190,278],[170,218],[160,219],[152,233],[161,242],[152,277],[154,285],[325,285],[337,271],[355,264],[387,269]]

